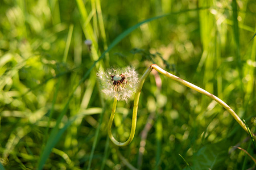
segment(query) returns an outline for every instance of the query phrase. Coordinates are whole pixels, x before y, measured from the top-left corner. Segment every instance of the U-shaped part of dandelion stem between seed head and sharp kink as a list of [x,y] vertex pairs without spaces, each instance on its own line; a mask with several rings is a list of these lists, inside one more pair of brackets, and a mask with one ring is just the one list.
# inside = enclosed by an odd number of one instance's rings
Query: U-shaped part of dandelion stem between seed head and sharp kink
[[111,112],[110,119],[109,119],[109,124],[108,124],[108,134],[109,134],[109,138],[111,139],[111,141],[117,146],[126,146],[129,143],[131,143],[131,141],[133,141],[133,137],[134,137],[135,129],[136,129],[136,123],[137,123],[137,112],[138,112],[138,105],[139,105],[139,96],[141,95],[141,90],[142,90],[144,81],[147,78],[147,76],[150,74],[151,71],[152,71],[152,67],[150,66],[150,67],[147,68],[145,73],[142,75],[141,80],[139,81],[139,84],[138,84],[138,87],[137,87],[137,90],[136,90],[136,94],[135,94],[135,97],[134,97],[133,120],[132,120],[132,123],[131,123],[130,137],[127,139],[126,142],[118,142],[112,135],[111,127],[112,127],[112,122],[113,122],[114,116],[115,116],[115,108],[117,107],[117,98],[114,98],[112,112]]

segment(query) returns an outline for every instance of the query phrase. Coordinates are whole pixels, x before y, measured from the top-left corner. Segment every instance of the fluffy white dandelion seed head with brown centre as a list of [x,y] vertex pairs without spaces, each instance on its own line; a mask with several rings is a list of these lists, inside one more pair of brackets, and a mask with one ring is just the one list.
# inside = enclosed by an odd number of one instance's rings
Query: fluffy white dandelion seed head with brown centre
[[132,66],[124,69],[112,67],[105,72],[100,70],[97,76],[105,97],[116,97],[117,100],[125,100],[126,102],[135,93],[139,80],[138,74]]

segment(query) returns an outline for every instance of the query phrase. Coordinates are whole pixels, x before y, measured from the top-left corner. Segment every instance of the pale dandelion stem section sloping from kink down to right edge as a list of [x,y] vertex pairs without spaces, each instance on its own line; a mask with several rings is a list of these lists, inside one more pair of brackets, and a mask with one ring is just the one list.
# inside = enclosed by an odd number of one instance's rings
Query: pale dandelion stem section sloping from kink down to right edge
[[[234,119],[238,122],[238,124],[240,124],[240,126],[243,128],[243,130],[245,130],[247,133],[249,133],[248,129],[246,128],[246,125],[243,123],[243,121],[240,119],[240,117],[238,117],[237,114],[232,110],[232,108],[230,108],[229,105],[226,104],[224,101],[222,101],[218,97],[214,96],[213,94],[210,94],[208,91],[203,90],[203,88],[197,87],[194,84],[189,83],[189,82],[179,78],[178,76],[168,73],[166,70],[163,70],[156,64],[152,64],[151,67],[152,67],[152,69],[155,69],[156,71],[167,76],[168,78],[171,78],[172,80],[175,80],[176,82],[179,82],[179,83],[183,84],[184,86],[192,88],[193,90],[200,92],[201,94],[203,94],[205,96],[210,97],[210,99],[217,101],[218,104],[222,105],[222,107],[224,107],[234,117]],[[256,140],[256,136],[254,134],[252,134],[252,135],[253,135],[253,139]]]

